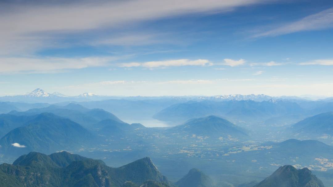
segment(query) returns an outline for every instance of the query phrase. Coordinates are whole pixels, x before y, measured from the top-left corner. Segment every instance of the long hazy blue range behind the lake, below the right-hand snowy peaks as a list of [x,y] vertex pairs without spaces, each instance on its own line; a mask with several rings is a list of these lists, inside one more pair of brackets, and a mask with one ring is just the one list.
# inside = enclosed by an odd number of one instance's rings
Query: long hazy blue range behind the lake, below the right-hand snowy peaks
[[171,105],[153,117],[163,121],[181,122],[195,117],[218,115],[230,119],[257,121],[289,114],[303,114],[299,104],[285,100],[253,101],[188,101]]

